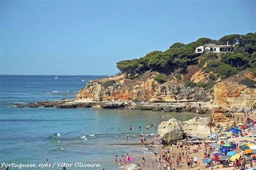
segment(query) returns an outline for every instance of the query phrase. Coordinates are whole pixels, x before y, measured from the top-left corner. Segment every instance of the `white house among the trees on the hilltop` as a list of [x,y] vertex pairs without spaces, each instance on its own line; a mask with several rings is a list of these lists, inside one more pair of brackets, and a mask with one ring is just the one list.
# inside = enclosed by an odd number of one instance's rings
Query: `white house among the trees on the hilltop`
[[[231,45],[215,45],[215,44],[207,44],[205,47],[205,52],[232,52],[234,51],[234,45],[231,47]],[[204,46],[199,46],[196,48],[196,53],[200,54],[204,52]]]

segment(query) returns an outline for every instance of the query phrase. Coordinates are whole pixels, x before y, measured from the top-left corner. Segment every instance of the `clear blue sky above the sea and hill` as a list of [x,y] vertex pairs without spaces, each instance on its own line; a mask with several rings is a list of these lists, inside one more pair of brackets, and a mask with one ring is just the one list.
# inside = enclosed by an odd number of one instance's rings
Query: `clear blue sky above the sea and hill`
[[256,1],[0,1],[0,74],[113,75],[174,42],[255,32]]

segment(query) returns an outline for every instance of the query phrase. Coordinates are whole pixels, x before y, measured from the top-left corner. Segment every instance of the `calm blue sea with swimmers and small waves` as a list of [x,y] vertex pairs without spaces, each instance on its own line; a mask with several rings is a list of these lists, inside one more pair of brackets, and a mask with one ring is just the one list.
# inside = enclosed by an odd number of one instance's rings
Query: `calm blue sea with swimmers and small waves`
[[[156,122],[158,126],[170,117],[187,121],[196,116],[143,110],[16,107],[29,102],[74,98],[87,81],[106,76],[55,77],[0,75],[0,164],[37,166],[21,169],[62,169],[60,163],[70,164],[71,167],[66,169],[131,169],[136,162],[141,162],[142,157],[153,155],[149,147],[139,144],[140,133],[149,141],[157,133],[155,127],[147,130],[147,124]],[[129,130],[129,124],[132,130]],[[140,130],[138,126],[141,126]],[[119,160],[127,153],[133,157],[134,164],[119,166],[114,156],[117,155]],[[46,164],[46,159],[51,167],[39,168]],[[100,167],[82,167],[88,164]]]

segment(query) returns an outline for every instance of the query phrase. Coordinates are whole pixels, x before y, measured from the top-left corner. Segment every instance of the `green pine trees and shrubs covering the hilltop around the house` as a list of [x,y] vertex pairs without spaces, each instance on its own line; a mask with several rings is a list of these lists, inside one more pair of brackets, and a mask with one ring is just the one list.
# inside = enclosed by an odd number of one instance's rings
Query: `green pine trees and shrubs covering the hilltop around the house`
[[[220,57],[217,53],[196,54],[195,52],[198,46],[204,46],[205,49],[207,44],[218,45],[227,42],[229,45],[235,45],[236,49],[234,52],[221,53]],[[133,79],[136,75],[143,74],[147,70],[155,70],[161,74],[158,74],[154,80],[163,83],[166,81],[164,74],[173,73],[179,80],[180,74],[186,73],[186,69],[190,65],[198,65],[204,73],[209,73],[210,82],[198,84],[199,87],[204,88],[212,86],[213,81],[217,80],[218,77],[223,80],[247,68],[250,68],[255,75],[256,33],[230,34],[219,40],[199,38],[189,44],[176,42],[164,52],[153,51],[140,59],[119,61],[117,68],[121,73],[125,73],[129,79]]]

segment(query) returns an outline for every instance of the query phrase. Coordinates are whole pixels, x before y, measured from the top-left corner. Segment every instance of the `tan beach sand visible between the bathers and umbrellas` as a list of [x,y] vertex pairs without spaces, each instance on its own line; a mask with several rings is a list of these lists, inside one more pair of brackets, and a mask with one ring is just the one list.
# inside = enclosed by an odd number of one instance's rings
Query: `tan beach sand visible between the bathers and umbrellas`
[[[233,119],[234,119],[236,124],[246,123],[245,119],[244,119],[243,122],[241,122],[241,117],[244,118],[244,114],[242,114],[241,112],[235,113],[233,115],[234,115],[234,118],[230,117],[231,121],[233,121]],[[237,121],[238,117],[239,117],[239,121]],[[255,114],[250,114],[250,118],[255,119],[256,118]],[[248,135],[253,134],[252,132],[248,132],[247,130],[245,130],[245,131],[246,131],[246,133],[248,133]],[[209,142],[210,142],[210,140],[209,140]],[[211,142],[214,142],[214,141],[211,141]],[[175,163],[174,168],[175,169],[209,169],[208,167],[206,167],[206,164],[203,163],[203,158],[204,158],[204,153],[205,153],[204,144],[200,144],[201,150],[199,150],[199,152],[193,153],[193,150],[195,150],[197,147],[198,147],[198,145],[190,146],[191,153],[187,153],[187,156],[189,158],[194,158],[194,157],[197,156],[197,158],[198,158],[198,164],[197,165],[193,164],[192,168],[188,168],[187,163],[186,163],[186,153],[184,153],[184,158],[181,159],[179,167],[177,167],[177,165]],[[168,149],[168,148],[169,148],[169,150],[171,150],[170,146],[161,147],[161,146],[156,146],[155,145],[154,147],[151,147],[150,150],[152,151],[152,153],[154,153],[154,152],[159,153],[161,150],[165,150],[165,149]],[[170,155],[171,155],[171,157],[174,156],[174,158],[176,160],[179,153],[181,153],[180,148],[173,147],[172,153],[170,153]],[[139,161],[133,162],[134,164],[136,164],[136,168],[138,168],[138,165],[140,165],[142,167],[142,169],[164,169],[163,161],[161,160],[161,167],[159,167],[159,164],[158,164],[158,162],[155,161],[155,157],[154,157],[153,154],[152,154],[152,157],[145,158],[145,160],[148,162],[148,167],[143,167],[142,158],[138,158],[138,159],[139,159]],[[153,166],[151,165],[152,161],[153,161]],[[253,162],[253,166],[255,166],[255,165],[256,165],[255,162]],[[134,167],[134,165],[133,165],[133,167]],[[246,164],[246,167],[250,167],[250,164]],[[230,167],[223,167],[223,165],[218,164],[218,168],[215,168],[215,169],[234,169],[233,162],[230,163]]]

